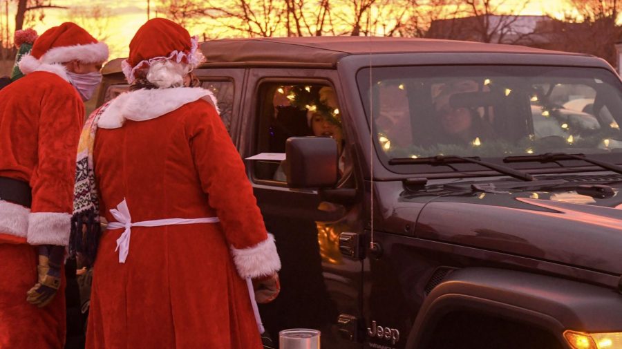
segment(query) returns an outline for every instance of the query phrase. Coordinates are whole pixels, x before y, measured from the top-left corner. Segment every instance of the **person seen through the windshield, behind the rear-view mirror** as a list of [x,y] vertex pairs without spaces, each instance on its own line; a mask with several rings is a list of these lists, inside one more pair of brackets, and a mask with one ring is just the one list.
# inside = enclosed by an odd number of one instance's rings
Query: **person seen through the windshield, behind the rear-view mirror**
[[483,108],[450,103],[453,95],[477,91],[478,83],[470,79],[448,82],[441,87],[433,101],[441,129],[438,144],[476,144],[495,138],[491,125],[484,120]]

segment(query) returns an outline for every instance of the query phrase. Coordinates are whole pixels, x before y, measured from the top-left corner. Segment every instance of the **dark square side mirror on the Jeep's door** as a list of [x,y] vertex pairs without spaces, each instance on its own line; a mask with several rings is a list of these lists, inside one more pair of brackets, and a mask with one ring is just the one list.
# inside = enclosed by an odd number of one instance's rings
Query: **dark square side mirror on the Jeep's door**
[[329,137],[290,137],[285,143],[290,188],[327,188],[337,184],[337,142]]

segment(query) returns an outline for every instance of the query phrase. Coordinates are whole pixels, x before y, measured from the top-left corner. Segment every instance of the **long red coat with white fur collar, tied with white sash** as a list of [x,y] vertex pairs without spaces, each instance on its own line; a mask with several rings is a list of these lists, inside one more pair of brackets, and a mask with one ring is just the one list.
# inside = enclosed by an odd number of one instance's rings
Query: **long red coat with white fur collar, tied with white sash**
[[220,223],[132,227],[120,263],[104,232],[94,266],[87,348],[261,348],[245,279],[279,257],[245,167],[202,88],[120,95],[98,122],[100,209],[126,200],[132,222],[218,217]]

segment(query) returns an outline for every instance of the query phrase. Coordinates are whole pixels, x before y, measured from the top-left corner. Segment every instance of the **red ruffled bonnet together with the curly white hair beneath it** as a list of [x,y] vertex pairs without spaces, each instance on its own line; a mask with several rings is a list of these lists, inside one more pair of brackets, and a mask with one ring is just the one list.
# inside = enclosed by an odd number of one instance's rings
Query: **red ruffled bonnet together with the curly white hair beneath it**
[[144,23],[129,46],[129,57],[122,62],[123,73],[132,84],[144,77],[158,87],[179,86],[183,75],[196,68],[205,57],[196,37],[185,28],[164,18]]

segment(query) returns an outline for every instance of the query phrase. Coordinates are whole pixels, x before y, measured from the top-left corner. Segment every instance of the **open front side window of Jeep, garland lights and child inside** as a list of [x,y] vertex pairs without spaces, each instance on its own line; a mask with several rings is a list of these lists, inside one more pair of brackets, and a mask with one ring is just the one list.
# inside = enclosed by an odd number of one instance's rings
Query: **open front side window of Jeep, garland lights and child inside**
[[[285,142],[294,136],[331,137],[343,151],[339,105],[332,87],[324,84],[270,83],[259,88],[254,177],[286,182]],[[279,156],[281,155],[281,156]],[[343,167],[340,164],[340,169]]]

